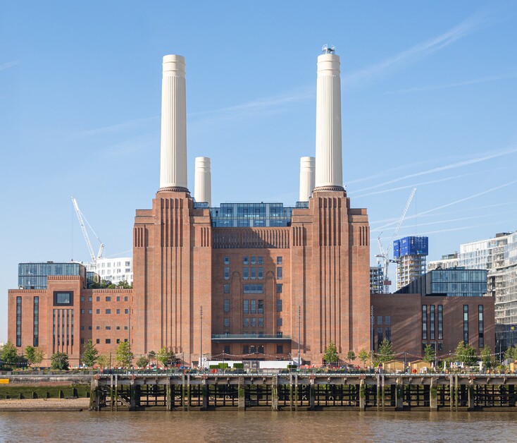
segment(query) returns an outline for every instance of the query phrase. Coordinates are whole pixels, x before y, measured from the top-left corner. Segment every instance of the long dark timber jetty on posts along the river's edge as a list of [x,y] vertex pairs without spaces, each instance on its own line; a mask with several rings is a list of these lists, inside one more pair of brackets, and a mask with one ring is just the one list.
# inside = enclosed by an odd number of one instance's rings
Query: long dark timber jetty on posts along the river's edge
[[516,411],[517,375],[339,372],[97,374],[92,411]]

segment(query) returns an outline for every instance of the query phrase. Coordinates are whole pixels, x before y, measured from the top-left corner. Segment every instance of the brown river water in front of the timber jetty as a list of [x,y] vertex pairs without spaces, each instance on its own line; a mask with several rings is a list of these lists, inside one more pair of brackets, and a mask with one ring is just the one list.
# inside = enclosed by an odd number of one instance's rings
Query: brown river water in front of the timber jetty
[[514,442],[517,414],[5,412],[0,442]]

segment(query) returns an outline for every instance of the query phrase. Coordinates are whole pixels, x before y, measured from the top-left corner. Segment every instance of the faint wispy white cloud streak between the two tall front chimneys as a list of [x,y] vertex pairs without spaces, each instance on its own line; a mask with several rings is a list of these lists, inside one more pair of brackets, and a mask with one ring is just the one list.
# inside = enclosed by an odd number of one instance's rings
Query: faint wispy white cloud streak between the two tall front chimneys
[[237,104],[235,106],[201,111],[188,114],[187,117],[195,120],[235,121],[256,117],[264,114],[276,114],[285,111],[288,107],[313,99],[316,91],[314,87],[300,87],[297,90],[286,92],[264,99]]

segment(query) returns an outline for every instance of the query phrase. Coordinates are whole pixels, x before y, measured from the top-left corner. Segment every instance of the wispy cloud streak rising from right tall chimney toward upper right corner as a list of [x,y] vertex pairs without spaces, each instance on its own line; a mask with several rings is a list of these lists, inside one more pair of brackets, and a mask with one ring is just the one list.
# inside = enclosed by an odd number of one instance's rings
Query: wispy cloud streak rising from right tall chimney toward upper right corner
[[359,80],[370,80],[392,71],[395,68],[405,66],[418,58],[440,51],[440,49],[444,49],[457,40],[472,34],[475,30],[478,30],[486,23],[487,14],[475,14],[437,37],[418,43],[405,51],[399,52],[399,54],[396,54],[389,59],[385,59],[380,63],[368,66],[368,68],[362,69],[361,71],[345,75],[347,84],[355,83]]

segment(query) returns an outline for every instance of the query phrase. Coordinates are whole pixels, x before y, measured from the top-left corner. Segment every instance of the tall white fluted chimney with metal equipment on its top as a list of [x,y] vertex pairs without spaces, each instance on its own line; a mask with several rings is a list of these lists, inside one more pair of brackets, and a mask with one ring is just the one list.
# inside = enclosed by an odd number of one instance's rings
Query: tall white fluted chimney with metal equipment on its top
[[334,47],[318,56],[316,190],[343,190],[340,57]]

